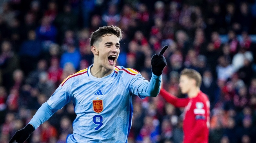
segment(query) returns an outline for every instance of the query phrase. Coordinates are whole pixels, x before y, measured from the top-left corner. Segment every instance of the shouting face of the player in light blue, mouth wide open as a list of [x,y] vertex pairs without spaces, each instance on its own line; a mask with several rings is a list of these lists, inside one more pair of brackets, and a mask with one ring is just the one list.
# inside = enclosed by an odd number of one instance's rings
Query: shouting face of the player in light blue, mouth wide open
[[107,70],[114,70],[120,52],[119,47],[119,39],[114,34],[102,36],[98,46],[99,62]]

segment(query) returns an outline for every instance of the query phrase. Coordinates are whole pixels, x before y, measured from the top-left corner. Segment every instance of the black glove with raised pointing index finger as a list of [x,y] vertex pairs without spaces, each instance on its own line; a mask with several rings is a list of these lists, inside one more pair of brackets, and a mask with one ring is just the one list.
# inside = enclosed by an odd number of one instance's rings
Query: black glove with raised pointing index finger
[[162,75],[163,68],[166,66],[165,57],[163,57],[163,53],[168,48],[168,46],[164,46],[159,54],[153,55],[151,59],[152,72],[154,75]]

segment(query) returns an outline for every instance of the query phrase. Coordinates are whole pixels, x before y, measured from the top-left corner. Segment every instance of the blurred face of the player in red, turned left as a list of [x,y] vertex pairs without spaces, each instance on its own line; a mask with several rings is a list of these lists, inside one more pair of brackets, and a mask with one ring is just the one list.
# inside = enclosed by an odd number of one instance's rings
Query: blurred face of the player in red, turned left
[[187,75],[181,75],[179,86],[183,94],[188,93],[192,87],[192,79],[187,77]]

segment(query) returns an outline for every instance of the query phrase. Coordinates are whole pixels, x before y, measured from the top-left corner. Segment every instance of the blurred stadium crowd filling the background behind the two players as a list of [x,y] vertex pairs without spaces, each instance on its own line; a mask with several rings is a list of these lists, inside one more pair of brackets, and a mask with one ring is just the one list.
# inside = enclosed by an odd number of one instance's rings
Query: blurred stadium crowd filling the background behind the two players
[[[123,31],[118,65],[151,78],[164,45],[163,88],[185,97],[179,73],[193,68],[211,102],[210,143],[256,142],[256,0],[0,0],[0,143],[24,127],[68,75],[93,63],[91,32]],[[133,98],[129,142],[181,143],[183,109]],[[65,143],[69,103],[28,143]]]

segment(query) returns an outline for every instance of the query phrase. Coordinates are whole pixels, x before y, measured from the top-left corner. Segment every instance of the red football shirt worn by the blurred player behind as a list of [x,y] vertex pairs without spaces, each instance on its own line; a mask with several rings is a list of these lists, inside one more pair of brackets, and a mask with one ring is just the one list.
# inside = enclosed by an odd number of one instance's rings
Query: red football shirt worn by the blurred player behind
[[208,143],[210,102],[207,95],[200,91],[194,98],[177,98],[164,89],[160,90],[160,95],[175,107],[185,107],[184,143]]

